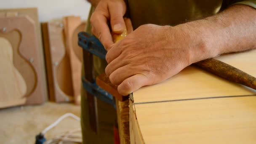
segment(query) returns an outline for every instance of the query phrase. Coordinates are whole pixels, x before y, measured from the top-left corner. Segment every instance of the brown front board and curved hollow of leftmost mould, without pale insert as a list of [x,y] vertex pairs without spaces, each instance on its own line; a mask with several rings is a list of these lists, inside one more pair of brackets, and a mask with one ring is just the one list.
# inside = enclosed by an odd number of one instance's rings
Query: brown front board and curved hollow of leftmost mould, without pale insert
[[46,91],[35,22],[28,16],[1,17],[0,21],[0,36],[13,43],[14,67],[26,83],[26,104],[41,104]]

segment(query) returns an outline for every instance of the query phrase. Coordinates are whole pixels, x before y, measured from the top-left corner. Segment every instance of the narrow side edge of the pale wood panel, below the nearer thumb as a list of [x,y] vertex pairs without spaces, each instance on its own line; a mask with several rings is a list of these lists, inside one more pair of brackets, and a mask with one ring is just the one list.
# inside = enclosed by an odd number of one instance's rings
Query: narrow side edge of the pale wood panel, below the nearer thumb
[[145,144],[143,136],[141,134],[139,123],[136,116],[136,108],[133,102],[129,102],[129,115],[130,115],[130,141],[131,144]]

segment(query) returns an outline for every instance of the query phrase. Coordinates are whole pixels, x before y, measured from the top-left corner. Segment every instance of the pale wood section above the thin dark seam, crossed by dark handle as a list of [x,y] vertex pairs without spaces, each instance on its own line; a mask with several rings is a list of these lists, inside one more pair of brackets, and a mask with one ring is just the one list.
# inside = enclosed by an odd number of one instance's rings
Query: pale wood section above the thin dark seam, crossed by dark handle
[[[219,56],[227,64],[256,77],[256,50]],[[223,80],[196,67],[187,67],[163,83],[133,92],[134,103],[213,96],[256,95],[256,90]]]

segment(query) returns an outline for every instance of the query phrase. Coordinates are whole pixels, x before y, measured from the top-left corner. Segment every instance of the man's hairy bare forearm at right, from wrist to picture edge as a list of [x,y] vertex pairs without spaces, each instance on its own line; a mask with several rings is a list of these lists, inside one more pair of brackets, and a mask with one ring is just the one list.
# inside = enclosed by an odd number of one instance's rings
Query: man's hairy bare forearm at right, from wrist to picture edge
[[202,39],[191,63],[222,53],[256,48],[256,10],[246,5],[233,5],[214,16],[181,24]]

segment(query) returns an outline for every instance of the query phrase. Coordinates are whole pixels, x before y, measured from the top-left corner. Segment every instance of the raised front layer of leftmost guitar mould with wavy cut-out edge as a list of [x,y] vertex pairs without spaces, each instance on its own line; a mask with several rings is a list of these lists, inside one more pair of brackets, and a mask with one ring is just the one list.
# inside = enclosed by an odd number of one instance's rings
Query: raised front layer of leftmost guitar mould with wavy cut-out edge
[[29,16],[0,18],[0,21],[0,29],[6,27],[5,32],[11,32],[17,29],[21,33],[22,40],[19,46],[19,52],[27,61],[31,62],[37,78],[35,89],[27,96],[26,104],[41,104],[45,101],[46,85],[44,85],[44,69],[41,63],[42,59],[40,59],[35,21]]

